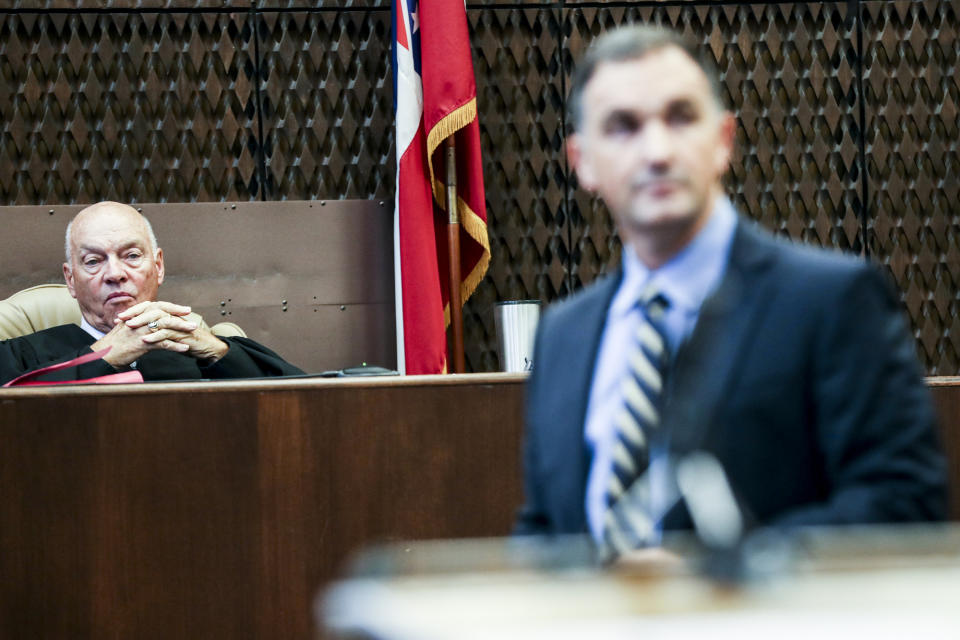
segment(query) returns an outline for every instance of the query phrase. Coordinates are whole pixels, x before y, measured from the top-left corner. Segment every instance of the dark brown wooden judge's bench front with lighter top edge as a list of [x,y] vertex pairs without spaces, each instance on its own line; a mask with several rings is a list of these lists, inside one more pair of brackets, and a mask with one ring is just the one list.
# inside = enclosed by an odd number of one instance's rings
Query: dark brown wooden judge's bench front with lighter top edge
[[[311,637],[355,550],[509,532],[523,384],[2,390],[0,637]],[[930,385],[957,487],[960,381]]]

